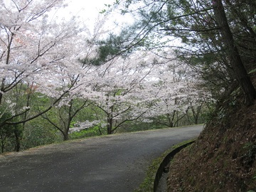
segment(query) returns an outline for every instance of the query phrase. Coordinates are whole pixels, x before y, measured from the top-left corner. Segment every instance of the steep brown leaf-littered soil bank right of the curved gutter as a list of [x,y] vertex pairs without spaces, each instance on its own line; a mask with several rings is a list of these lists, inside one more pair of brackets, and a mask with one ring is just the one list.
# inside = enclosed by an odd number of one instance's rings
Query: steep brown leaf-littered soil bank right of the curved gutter
[[256,191],[256,104],[225,101],[171,161],[168,191]]

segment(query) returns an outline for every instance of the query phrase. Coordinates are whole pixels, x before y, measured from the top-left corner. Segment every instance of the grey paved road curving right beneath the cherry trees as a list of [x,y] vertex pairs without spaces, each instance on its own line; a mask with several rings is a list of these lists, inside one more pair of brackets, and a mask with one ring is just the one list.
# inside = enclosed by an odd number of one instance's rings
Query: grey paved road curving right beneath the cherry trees
[[152,159],[202,128],[117,134],[0,155],[0,191],[132,192]]

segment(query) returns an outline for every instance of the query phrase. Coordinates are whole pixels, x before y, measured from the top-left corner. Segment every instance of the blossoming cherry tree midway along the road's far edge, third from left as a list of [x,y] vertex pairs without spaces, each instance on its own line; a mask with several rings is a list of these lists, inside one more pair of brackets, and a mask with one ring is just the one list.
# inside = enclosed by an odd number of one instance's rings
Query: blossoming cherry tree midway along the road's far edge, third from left
[[[155,55],[137,51],[127,58],[116,57],[105,65],[95,66],[95,80],[86,87],[86,95],[105,113],[107,134],[125,122],[142,117],[148,110],[144,86],[157,68]],[[83,124],[83,127],[85,124]]]

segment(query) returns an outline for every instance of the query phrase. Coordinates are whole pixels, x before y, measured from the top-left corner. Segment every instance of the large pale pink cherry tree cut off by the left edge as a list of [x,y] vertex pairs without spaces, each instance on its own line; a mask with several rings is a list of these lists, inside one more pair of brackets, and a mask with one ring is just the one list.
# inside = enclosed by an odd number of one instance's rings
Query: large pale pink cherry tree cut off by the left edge
[[[86,28],[75,18],[58,23],[50,18],[50,11],[62,6],[62,0],[1,2],[0,115],[12,115],[1,119],[0,127],[39,117],[77,86],[82,66],[78,62],[81,51],[76,46]],[[69,85],[63,86],[67,82]],[[52,98],[40,112],[31,108],[32,96],[39,96],[36,92]],[[16,148],[18,151],[18,143]]]

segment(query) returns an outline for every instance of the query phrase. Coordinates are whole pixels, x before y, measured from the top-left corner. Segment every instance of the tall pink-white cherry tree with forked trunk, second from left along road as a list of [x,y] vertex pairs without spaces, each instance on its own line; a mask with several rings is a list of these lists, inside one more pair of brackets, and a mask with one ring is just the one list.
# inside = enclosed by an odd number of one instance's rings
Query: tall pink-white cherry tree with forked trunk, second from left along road
[[[93,31],[86,31],[75,38],[75,46],[70,53],[70,58],[65,58],[65,65],[58,68],[60,71],[56,72],[56,79],[54,82],[61,90],[69,90],[67,94],[63,95],[62,99],[56,103],[54,110],[50,110],[42,117],[53,125],[63,135],[63,140],[68,140],[70,132],[86,129],[91,127],[96,122],[89,122],[83,119],[83,122],[75,122],[75,117],[85,108],[92,104],[90,100],[90,92],[92,89],[92,82],[95,82],[96,69],[88,60],[95,58],[97,55],[97,46],[95,41],[105,35],[105,22],[107,16],[99,16],[95,21]],[[53,82],[52,80],[50,80]],[[71,86],[70,88],[70,85]],[[55,89],[55,93],[48,94],[48,90],[41,90],[48,97],[54,97],[59,94],[59,88]],[[53,93],[53,92],[51,92]],[[55,98],[56,99],[56,98]],[[75,126],[75,127],[74,127]]]

